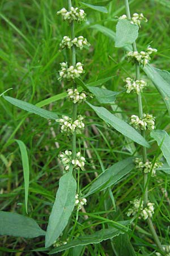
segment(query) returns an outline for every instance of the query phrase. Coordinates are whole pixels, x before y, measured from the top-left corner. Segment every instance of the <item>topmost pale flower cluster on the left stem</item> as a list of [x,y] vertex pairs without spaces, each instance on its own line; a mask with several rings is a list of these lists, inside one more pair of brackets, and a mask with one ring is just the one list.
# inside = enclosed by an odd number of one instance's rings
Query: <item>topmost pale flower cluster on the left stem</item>
[[70,11],[67,11],[65,8],[62,8],[60,11],[57,11],[57,14],[61,14],[64,20],[69,20],[72,22],[73,20],[77,22],[81,22],[86,18],[86,13],[84,10],[79,9],[78,7],[71,7]]

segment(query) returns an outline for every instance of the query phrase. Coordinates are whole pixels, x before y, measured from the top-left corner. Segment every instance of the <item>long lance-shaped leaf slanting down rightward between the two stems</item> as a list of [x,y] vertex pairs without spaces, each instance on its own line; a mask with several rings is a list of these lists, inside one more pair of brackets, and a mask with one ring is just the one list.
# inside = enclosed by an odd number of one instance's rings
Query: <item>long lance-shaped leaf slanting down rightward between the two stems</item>
[[113,115],[111,112],[109,112],[107,109],[103,107],[97,107],[97,106],[91,105],[89,102],[87,102],[87,104],[91,106],[92,109],[95,110],[96,114],[101,119],[103,119],[106,123],[109,123],[109,125],[111,125],[114,129],[119,131],[121,134],[125,135],[126,137],[130,138],[132,141],[137,142],[142,146],[150,147],[150,145],[142,137],[142,135],[139,134],[133,127],[128,125],[128,123],[116,117],[115,115]]

